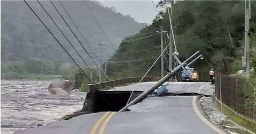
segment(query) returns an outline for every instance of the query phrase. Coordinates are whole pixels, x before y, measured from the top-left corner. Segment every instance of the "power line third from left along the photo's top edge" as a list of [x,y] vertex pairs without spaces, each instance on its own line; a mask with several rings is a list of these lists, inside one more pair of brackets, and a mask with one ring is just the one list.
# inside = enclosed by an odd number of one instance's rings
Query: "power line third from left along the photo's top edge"
[[[60,12],[58,11],[58,9],[56,8],[56,6],[52,3],[52,1],[50,0],[50,3],[53,5],[53,7],[55,8],[55,10],[57,11],[57,13],[59,14],[59,16],[62,18],[62,20],[65,22],[65,24],[67,25],[67,27],[69,28],[69,30],[72,32],[72,34],[74,35],[74,37],[76,38],[76,40],[79,42],[79,44],[82,46],[83,50],[87,53],[87,55],[89,56],[89,58],[92,60],[92,62],[96,65],[96,67],[99,69],[99,67],[97,66],[97,64],[95,63],[95,61],[91,58],[90,54],[87,52],[87,50],[84,48],[84,46],[81,44],[80,40],[77,38],[77,36],[74,34],[73,30],[70,28],[70,26],[67,24],[67,22],[65,21],[65,19],[63,18],[63,16],[60,14]],[[109,83],[109,81],[107,80],[107,78],[105,77],[105,75],[103,74],[103,72],[99,69],[100,73],[103,75],[103,77],[106,79],[106,81]],[[110,84],[111,88],[114,90],[113,86]]]

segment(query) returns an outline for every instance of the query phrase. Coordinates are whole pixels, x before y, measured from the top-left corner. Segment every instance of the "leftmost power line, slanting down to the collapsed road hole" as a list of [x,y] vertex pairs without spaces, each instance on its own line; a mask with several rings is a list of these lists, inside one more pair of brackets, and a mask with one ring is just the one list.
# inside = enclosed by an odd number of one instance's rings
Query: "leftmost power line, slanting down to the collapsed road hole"
[[[53,33],[49,30],[49,28],[43,23],[43,21],[40,19],[40,17],[34,12],[34,10],[30,7],[30,5],[25,1],[25,4],[29,7],[29,9],[34,13],[34,15],[39,19],[39,21],[43,24],[43,26],[47,29],[47,31],[51,34],[51,36],[57,41],[57,43],[60,45],[60,47],[65,51],[65,53],[71,58],[71,60],[76,64],[76,66],[82,71],[84,76],[90,81],[89,77],[84,73],[84,71],[80,68],[80,66],[75,62],[75,60],[72,58],[72,56],[66,51],[66,49],[61,45],[61,43],[57,40],[57,38],[53,35]],[[94,86],[94,88],[97,90],[97,87],[90,81],[90,83]],[[107,99],[101,94],[101,96],[106,100],[106,102],[115,109],[108,101]]]

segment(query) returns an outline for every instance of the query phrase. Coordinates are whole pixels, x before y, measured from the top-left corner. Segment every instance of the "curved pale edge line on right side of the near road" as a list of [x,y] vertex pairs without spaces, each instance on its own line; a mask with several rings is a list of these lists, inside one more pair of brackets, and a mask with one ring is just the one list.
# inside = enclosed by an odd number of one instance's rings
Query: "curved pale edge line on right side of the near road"
[[199,112],[197,106],[196,106],[196,96],[193,96],[193,100],[192,100],[192,105],[195,106],[193,107],[195,114],[206,124],[208,125],[211,129],[213,129],[214,131],[216,131],[218,134],[226,134],[223,131],[221,131],[219,128],[215,127],[214,125],[212,125],[209,121],[207,121]]

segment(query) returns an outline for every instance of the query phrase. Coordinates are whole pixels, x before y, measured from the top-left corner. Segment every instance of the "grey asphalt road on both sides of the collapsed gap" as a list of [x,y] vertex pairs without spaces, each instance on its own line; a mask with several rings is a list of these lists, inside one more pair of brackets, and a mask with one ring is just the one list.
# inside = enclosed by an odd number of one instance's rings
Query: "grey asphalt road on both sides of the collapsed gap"
[[[153,83],[145,82],[140,86],[146,89]],[[169,92],[185,88],[182,92],[198,92],[200,89],[212,94],[209,83],[198,83],[197,86],[190,82],[170,82],[167,89]],[[136,84],[126,86],[126,89],[134,87]],[[123,90],[121,88],[116,90]],[[128,109],[129,112],[82,115],[15,134],[225,134],[207,120],[196,96],[150,97]]]

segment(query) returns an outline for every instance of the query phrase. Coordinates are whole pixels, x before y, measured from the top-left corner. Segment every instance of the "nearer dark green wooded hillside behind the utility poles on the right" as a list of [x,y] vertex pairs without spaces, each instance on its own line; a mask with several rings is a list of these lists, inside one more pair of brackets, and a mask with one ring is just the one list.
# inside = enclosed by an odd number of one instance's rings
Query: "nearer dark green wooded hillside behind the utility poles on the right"
[[[167,7],[166,2],[163,1],[160,1],[158,6]],[[255,10],[256,1],[251,1],[252,68],[256,63],[254,58],[256,55]],[[221,74],[232,74],[243,69],[241,56],[244,50],[244,1],[175,1],[173,16],[173,26],[176,25],[175,41],[181,61],[200,50],[209,64]],[[134,36],[128,36],[122,40],[119,49],[108,61],[108,75],[142,76],[160,54],[160,34],[145,37],[153,34],[145,33],[159,31],[160,25],[163,25],[169,33],[167,10],[160,12],[151,25]],[[168,39],[166,40],[168,44]],[[166,53],[165,57],[168,57]],[[167,68],[167,60],[164,62]],[[201,80],[206,80],[211,68],[209,64],[205,59],[197,60],[191,67],[199,72]],[[151,69],[149,75],[160,76],[160,60]]]

